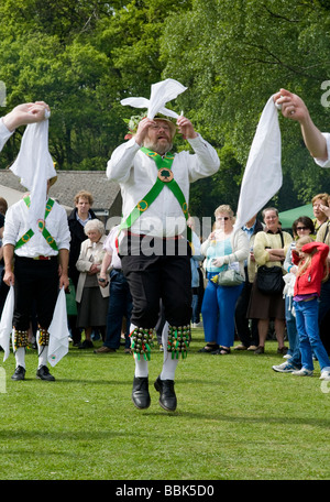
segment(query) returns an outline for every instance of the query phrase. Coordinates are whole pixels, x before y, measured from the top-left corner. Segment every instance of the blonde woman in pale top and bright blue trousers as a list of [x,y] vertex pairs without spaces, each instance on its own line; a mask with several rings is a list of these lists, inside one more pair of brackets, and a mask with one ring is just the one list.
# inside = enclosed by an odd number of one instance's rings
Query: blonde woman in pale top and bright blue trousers
[[244,260],[249,255],[249,239],[240,229],[233,231],[233,211],[230,206],[219,206],[216,211],[216,229],[201,244],[207,258],[208,284],[201,314],[206,347],[200,352],[227,354],[234,341],[234,312],[243,282],[223,286],[213,282],[219,272],[234,269],[244,277]]

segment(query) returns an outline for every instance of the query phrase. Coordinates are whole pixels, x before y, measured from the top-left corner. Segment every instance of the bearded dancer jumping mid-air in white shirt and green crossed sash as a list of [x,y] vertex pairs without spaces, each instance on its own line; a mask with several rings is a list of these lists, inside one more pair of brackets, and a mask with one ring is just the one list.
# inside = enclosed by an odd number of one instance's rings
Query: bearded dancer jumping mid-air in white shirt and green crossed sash
[[167,323],[163,330],[163,368],[154,386],[164,410],[174,412],[177,406],[175,370],[190,340],[191,252],[186,225],[189,184],[215,174],[220,165],[216,150],[187,118],[180,116],[176,123],[194,154],[187,151],[170,154],[176,126],[167,117],[153,116],[140,120],[133,137],[114,150],[107,167],[108,178],[119,182],[123,198],[118,243],[133,298],[132,401],[140,410],[151,404],[150,343],[158,319],[160,299]]

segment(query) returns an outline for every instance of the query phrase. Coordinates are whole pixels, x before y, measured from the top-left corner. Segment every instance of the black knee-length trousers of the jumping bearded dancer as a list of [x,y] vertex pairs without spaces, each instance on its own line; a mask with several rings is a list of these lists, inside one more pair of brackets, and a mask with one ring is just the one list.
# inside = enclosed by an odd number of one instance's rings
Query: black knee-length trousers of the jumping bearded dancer
[[[165,239],[147,238],[147,245],[143,249],[142,240],[145,237],[135,237],[135,242],[131,236],[127,236],[125,239],[127,254],[121,254],[120,258],[133,299],[131,323],[142,328],[154,328],[158,320],[162,299],[165,318],[170,326],[189,325],[191,253],[188,242],[180,239],[172,241],[168,247]],[[147,254],[144,252],[145,249]]]

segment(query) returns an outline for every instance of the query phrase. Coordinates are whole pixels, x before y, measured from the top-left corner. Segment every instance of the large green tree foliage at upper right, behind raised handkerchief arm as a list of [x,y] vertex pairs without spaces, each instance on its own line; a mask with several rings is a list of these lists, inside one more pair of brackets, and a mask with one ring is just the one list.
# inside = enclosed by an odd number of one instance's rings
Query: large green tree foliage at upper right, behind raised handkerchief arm
[[[210,141],[248,160],[257,121],[270,96],[285,87],[302,97],[318,127],[329,130],[321,83],[329,78],[329,2],[293,0],[195,0],[191,12],[166,22],[165,76],[183,80],[194,117]],[[330,173],[309,157],[297,123],[280,118],[284,184],[280,209],[330,190]],[[265,166],[265,170],[267,166]],[[235,176],[240,181],[241,176]],[[219,190],[221,200],[232,193]]]

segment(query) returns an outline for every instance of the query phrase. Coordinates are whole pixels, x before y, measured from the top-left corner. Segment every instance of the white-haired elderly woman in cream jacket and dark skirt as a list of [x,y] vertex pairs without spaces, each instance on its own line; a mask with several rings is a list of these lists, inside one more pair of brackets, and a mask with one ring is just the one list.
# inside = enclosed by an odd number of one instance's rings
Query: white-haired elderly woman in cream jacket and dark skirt
[[77,327],[85,329],[85,340],[79,346],[80,349],[94,347],[90,339],[92,328],[99,328],[105,338],[109,303],[109,285],[103,288],[98,283],[98,273],[105,257],[105,226],[100,220],[92,219],[85,225],[84,230],[88,239],[81,243],[76,263],[80,272],[76,294]]

